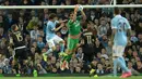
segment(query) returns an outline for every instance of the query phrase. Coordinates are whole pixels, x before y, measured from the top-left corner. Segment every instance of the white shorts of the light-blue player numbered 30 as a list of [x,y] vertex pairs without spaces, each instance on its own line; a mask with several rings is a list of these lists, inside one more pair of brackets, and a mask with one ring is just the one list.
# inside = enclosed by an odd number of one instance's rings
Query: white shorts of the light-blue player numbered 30
[[113,56],[122,56],[125,48],[122,45],[113,45]]

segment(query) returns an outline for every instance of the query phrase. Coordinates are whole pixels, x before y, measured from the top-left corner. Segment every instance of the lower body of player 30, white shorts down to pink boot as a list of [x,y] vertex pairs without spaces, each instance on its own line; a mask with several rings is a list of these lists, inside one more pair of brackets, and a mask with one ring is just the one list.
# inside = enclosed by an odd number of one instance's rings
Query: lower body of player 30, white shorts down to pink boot
[[114,76],[116,76],[117,74],[117,67],[119,66],[122,70],[123,74],[121,75],[121,78],[127,78],[131,76],[131,71],[129,71],[128,67],[126,66],[126,62],[123,58],[123,51],[125,51],[125,47],[121,45],[114,45],[113,47],[113,56],[114,56]]

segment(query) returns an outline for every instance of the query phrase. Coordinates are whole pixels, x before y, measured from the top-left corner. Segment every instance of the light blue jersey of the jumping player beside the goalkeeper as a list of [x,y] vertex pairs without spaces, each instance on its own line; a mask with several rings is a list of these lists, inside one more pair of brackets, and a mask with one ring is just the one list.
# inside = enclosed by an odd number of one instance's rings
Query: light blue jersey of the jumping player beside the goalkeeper
[[49,40],[56,36],[55,34],[56,22],[48,21],[46,27],[46,39]]

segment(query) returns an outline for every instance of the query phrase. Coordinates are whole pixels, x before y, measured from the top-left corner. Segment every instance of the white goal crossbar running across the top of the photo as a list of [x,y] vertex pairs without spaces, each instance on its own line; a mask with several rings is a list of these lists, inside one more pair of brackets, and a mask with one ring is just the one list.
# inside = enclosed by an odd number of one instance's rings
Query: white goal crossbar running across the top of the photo
[[[75,5],[0,5],[0,10],[4,10],[4,9],[73,9],[74,6]],[[106,4],[104,4],[104,5],[83,5],[84,9],[115,8],[115,6],[117,6],[117,8],[142,8],[142,4],[117,4],[117,0],[111,0],[110,4],[107,4],[107,5]]]

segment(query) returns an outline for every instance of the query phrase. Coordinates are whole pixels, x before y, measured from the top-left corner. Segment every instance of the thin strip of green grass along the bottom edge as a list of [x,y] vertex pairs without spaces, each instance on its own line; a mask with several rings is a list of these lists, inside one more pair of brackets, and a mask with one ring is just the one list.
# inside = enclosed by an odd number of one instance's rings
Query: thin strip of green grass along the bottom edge
[[[0,79],[122,79],[119,77],[1,77]],[[133,76],[126,79],[142,79],[142,76]]]

